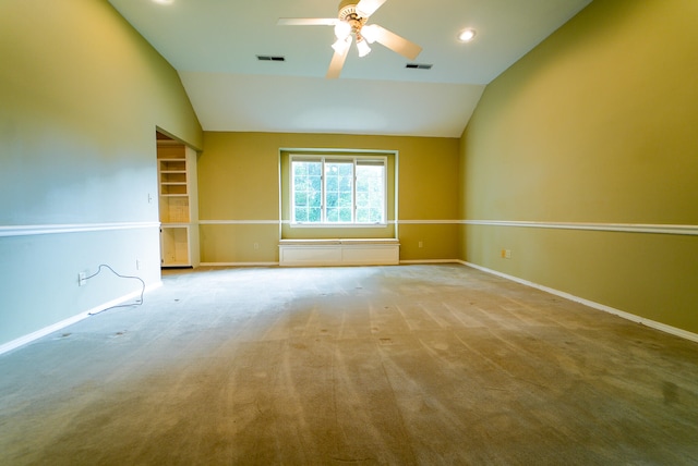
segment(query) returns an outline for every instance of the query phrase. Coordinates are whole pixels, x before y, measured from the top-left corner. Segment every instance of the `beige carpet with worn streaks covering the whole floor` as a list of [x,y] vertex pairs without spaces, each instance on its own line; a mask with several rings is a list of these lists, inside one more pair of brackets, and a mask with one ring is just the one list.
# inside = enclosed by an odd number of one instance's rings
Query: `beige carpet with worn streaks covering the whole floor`
[[696,343],[457,265],[164,282],[0,356],[0,464],[698,464]]

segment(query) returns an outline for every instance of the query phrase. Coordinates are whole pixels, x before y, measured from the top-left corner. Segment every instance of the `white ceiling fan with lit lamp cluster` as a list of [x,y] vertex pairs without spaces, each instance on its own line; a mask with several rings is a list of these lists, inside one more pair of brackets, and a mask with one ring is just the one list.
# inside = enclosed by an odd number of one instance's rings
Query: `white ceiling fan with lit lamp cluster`
[[337,41],[332,46],[335,54],[329,62],[326,77],[337,78],[345,65],[352,39],[357,41],[359,57],[371,52],[369,44],[378,42],[388,49],[414,60],[422,48],[377,24],[366,24],[371,16],[386,0],[342,0],[339,2],[337,17],[281,17],[280,26],[335,26]]

